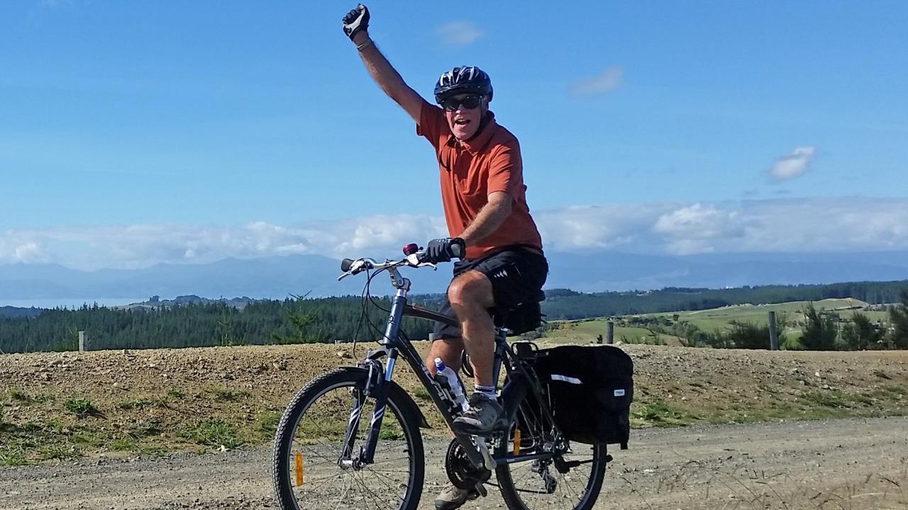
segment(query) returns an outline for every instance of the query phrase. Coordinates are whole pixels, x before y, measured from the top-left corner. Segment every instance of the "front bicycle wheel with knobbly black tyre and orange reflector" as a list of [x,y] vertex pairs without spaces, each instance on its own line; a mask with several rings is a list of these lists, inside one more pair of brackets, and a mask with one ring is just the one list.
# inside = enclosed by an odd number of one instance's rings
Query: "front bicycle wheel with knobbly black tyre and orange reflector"
[[[274,436],[272,479],[284,510],[415,509],[425,476],[418,417],[390,392],[373,462],[350,466],[369,436],[375,399],[367,373],[341,368],[303,387],[284,411]],[[348,441],[348,424],[356,424]],[[347,455],[345,455],[345,451]]]

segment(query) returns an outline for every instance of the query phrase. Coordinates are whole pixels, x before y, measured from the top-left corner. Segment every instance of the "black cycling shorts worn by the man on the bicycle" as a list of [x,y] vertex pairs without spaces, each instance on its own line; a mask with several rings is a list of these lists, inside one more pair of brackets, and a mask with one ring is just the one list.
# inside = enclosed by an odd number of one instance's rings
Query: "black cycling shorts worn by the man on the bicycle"
[[[513,309],[518,304],[538,296],[548,277],[548,261],[534,251],[513,247],[496,251],[477,260],[454,262],[454,278],[469,270],[478,270],[492,282],[492,297],[495,299],[496,308]],[[489,313],[494,311],[495,309],[489,309]],[[439,312],[455,317],[447,293]],[[434,337],[459,338],[460,329],[436,322]]]

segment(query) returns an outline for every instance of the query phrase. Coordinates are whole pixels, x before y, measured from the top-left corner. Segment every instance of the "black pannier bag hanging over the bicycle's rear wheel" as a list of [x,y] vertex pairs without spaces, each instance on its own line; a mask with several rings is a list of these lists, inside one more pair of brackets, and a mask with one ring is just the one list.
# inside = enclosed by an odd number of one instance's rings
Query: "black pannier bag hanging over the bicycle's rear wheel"
[[613,346],[563,346],[535,353],[558,427],[568,440],[627,449],[634,362]]

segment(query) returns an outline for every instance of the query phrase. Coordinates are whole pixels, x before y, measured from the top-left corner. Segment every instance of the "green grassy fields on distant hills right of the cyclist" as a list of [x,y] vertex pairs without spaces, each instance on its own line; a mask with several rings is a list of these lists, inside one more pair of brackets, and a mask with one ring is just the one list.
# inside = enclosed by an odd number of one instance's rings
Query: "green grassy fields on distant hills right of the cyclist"
[[[686,321],[703,331],[725,331],[731,329],[733,320],[765,326],[769,322],[768,312],[775,311],[776,315],[785,314],[785,319],[789,324],[780,333],[790,338],[800,338],[801,326],[799,322],[804,321],[804,309],[807,308],[807,304],[808,301],[793,301],[773,305],[744,304],[718,309],[642,314],[637,317],[674,319],[674,316],[677,316],[678,321]],[[842,319],[851,319],[854,316],[854,312],[863,313],[873,322],[885,322],[888,319],[887,312],[865,311],[863,308],[866,306],[867,303],[858,299],[823,299],[814,301],[815,309],[835,310]],[[631,317],[634,316],[624,316],[618,319],[630,319]],[[606,321],[607,318],[554,321],[553,326],[555,328],[547,332],[546,338],[563,342],[595,342],[597,341],[597,335],[602,335],[603,338],[606,336]],[[658,338],[658,343],[680,344],[680,339],[671,335],[660,333]],[[653,339],[654,335],[645,328],[615,327],[616,342],[653,343]]]

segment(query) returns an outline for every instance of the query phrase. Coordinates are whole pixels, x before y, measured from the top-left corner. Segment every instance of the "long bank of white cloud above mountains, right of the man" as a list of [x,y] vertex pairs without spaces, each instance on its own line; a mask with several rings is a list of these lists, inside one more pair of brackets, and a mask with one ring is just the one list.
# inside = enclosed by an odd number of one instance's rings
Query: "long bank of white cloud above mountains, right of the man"
[[547,251],[908,250],[908,199],[616,204],[534,213]]

